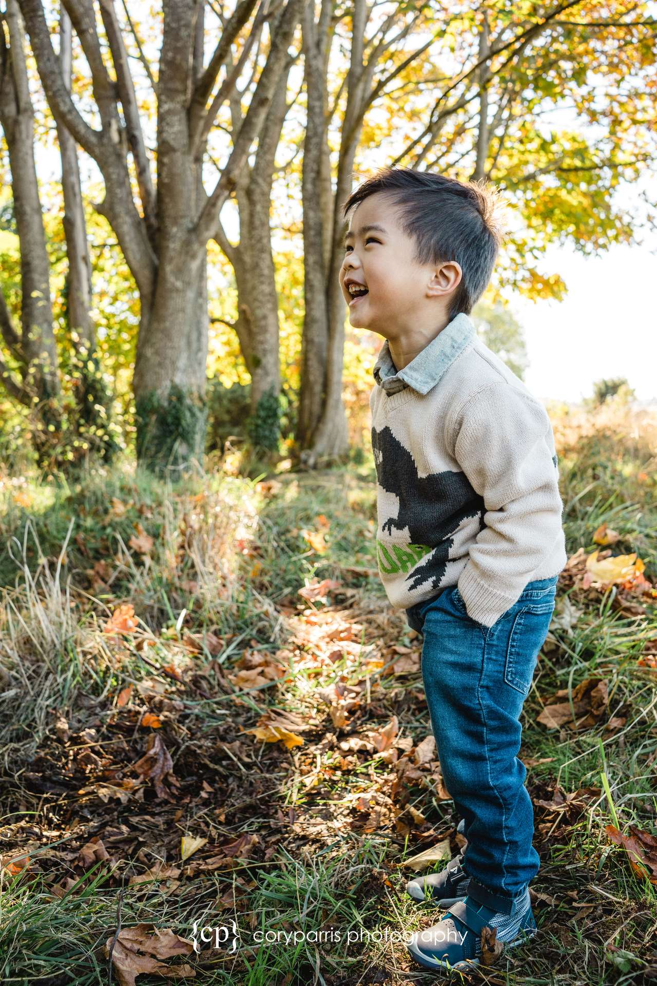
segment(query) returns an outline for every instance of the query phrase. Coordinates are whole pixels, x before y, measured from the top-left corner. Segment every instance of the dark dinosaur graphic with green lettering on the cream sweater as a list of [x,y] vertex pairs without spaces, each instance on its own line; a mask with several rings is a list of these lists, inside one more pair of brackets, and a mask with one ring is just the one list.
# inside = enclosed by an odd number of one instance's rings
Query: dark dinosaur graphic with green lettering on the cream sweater
[[[479,529],[485,527],[484,499],[462,471],[446,469],[427,476],[418,475],[415,459],[395,438],[389,427],[371,429],[371,443],[379,486],[392,493],[399,502],[397,517],[389,517],[381,529],[408,531],[408,543],[384,544],[377,539],[379,565],[385,573],[407,572],[409,591],[427,580],[437,590],[442,582],[453,534],[466,518],[479,517]],[[427,561],[418,561],[431,552]]]

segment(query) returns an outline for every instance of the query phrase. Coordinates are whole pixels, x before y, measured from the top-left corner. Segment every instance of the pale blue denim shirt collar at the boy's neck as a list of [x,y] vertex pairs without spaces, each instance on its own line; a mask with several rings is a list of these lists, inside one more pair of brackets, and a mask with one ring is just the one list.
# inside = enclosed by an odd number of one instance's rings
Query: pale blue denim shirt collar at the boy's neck
[[431,387],[435,387],[476,334],[472,319],[460,312],[431,339],[415,359],[399,371],[392,361],[386,339],[372,370],[374,380],[386,393],[397,393],[404,387],[413,387],[419,393],[427,393]]

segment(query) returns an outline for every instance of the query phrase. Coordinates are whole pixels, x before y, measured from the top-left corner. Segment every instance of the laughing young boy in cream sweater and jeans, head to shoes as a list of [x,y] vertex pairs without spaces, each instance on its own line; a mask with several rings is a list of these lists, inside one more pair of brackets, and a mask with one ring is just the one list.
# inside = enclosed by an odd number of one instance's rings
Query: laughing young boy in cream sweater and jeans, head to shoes
[[567,559],[548,414],[469,317],[500,243],[494,205],[486,187],[397,168],[344,205],[350,321],[385,339],[369,401],[379,573],[423,634],[431,729],[467,839],[407,887],[448,908],[408,942],[430,969],[478,964],[484,927],[504,948],[536,932],[516,754]]

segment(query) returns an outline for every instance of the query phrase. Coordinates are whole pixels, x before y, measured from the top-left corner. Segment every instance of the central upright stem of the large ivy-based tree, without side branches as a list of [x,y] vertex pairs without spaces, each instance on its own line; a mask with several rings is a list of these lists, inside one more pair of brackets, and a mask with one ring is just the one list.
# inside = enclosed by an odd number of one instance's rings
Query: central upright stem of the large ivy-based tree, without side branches
[[[137,456],[154,471],[203,460],[207,322],[202,324],[203,255],[188,235],[198,211],[198,172],[190,147],[188,72],[198,5],[164,2],[158,99],[158,269],[142,318],[133,387]],[[205,328],[205,332],[204,332]]]

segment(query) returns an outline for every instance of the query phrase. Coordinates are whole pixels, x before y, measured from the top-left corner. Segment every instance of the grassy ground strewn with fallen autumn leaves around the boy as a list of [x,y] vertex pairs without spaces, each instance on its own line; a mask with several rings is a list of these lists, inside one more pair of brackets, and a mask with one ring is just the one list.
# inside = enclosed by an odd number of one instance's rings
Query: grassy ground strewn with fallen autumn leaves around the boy
[[[637,438],[623,420],[616,432],[607,422],[566,441],[562,425],[568,554],[599,547],[593,533],[607,523],[621,535],[614,553],[636,551],[654,583],[654,434]],[[194,922],[234,920],[239,951],[205,947],[187,959],[199,983],[431,981],[404,941],[439,911],[405,895],[401,864],[445,837],[456,851],[458,818],[428,772],[392,798],[394,760],[371,743],[359,748],[393,716],[414,744],[429,733],[419,670],[390,673],[400,657],[392,648],[417,653],[419,641],[375,574],[373,476],[366,458],[267,477],[273,492],[220,473],[172,488],[123,462],[74,488],[38,477],[2,485],[0,854],[5,864],[31,858],[16,876],[0,871],[3,982],[106,983],[102,947],[117,913],[123,928],[144,922],[186,939]],[[112,498],[125,511],[112,512]],[[129,544],[137,524],[154,539],[146,555]],[[327,550],[313,550],[303,529],[325,529]],[[108,581],[95,586],[89,572],[103,561]],[[309,602],[297,592],[313,579],[340,587]],[[655,601],[633,613],[622,599],[614,588],[583,590],[581,580],[559,587],[523,709],[521,757],[551,758],[527,776],[542,857],[532,888],[548,898],[534,905],[540,937],[452,981],[606,986],[657,975],[656,887],[605,830],[618,822],[625,834],[630,825],[656,832],[657,671],[639,664],[657,635]],[[102,628],[120,602],[134,605],[139,631],[112,639]],[[231,681],[267,655],[278,656],[282,676]],[[590,677],[608,684],[599,720],[579,732],[537,722],[558,689],[572,696]],[[340,690],[354,697],[345,727],[330,715]],[[244,732],[277,710],[296,714],[302,745]],[[160,729],[141,725],[147,712]],[[610,732],[612,717],[624,724]],[[170,797],[158,799],[148,778],[125,801],[100,797],[136,779],[153,736],[171,757]],[[568,810],[538,805],[551,803],[556,785],[580,792]],[[250,855],[210,865],[249,834]],[[183,835],[207,843],[181,862]],[[95,836],[109,858],[90,871],[79,853]],[[158,861],[181,871],[175,885],[129,883]],[[67,879],[76,885],[55,896]],[[324,940],[312,941],[322,929]]]

